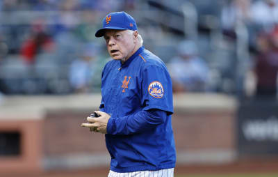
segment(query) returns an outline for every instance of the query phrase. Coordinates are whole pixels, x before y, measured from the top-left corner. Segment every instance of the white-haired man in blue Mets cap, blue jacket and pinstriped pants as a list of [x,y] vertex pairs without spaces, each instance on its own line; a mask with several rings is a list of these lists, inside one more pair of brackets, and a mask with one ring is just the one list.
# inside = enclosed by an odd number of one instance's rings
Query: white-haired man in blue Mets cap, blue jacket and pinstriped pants
[[112,176],[174,176],[172,82],[158,56],[142,47],[136,21],[124,12],[104,17],[104,36],[113,58],[102,72],[99,117],[83,127],[104,133]]

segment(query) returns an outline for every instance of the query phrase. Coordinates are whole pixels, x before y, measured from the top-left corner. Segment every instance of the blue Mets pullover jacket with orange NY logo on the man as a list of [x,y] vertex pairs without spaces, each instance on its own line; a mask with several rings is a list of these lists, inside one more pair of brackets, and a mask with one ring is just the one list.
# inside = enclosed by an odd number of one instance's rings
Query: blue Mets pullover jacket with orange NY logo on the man
[[99,108],[111,114],[106,134],[111,170],[173,168],[172,81],[163,61],[140,47],[124,64],[106,63],[101,82]]

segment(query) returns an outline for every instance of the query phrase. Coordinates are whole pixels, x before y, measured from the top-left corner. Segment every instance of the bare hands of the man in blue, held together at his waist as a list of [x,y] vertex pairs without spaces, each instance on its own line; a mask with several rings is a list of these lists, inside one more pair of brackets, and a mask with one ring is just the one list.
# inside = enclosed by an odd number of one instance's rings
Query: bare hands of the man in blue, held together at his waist
[[103,111],[95,111],[99,114],[99,117],[87,117],[89,123],[82,123],[81,126],[90,128],[90,131],[100,132],[103,134],[107,133],[107,123],[111,116]]

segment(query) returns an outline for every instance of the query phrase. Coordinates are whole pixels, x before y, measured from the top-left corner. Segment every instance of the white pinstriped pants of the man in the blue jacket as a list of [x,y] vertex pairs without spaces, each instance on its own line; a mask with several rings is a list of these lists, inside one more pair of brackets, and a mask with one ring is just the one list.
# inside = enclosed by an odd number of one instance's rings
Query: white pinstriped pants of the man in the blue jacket
[[134,171],[126,173],[118,173],[115,171],[109,171],[108,177],[173,177],[174,168],[161,169],[158,171]]

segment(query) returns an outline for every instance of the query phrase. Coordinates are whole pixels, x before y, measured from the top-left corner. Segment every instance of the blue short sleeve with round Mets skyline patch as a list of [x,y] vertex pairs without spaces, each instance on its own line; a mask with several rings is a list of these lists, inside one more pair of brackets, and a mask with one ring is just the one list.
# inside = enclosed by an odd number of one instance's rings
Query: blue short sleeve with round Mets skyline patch
[[161,109],[167,111],[167,114],[172,114],[172,81],[167,68],[163,64],[148,65],[143,70],[142,78],[144,110]]

